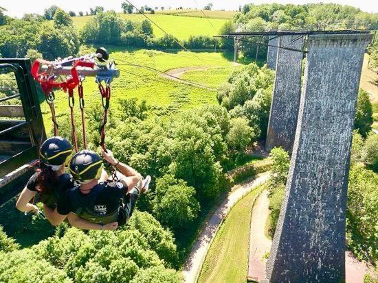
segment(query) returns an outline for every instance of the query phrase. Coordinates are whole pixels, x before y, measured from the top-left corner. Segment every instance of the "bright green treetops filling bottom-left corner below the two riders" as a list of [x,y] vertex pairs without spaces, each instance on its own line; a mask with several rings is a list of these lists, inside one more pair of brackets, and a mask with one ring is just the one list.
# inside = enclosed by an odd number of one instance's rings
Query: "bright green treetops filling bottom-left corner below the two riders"
[[174,242],[151,214],[138,211],[115,232],[69,228],[30,249],[16,250],[0,232],[0,247],[6,246],[0,251],[0,281],[179,282],[179,273],[169,269],[177,264]]

